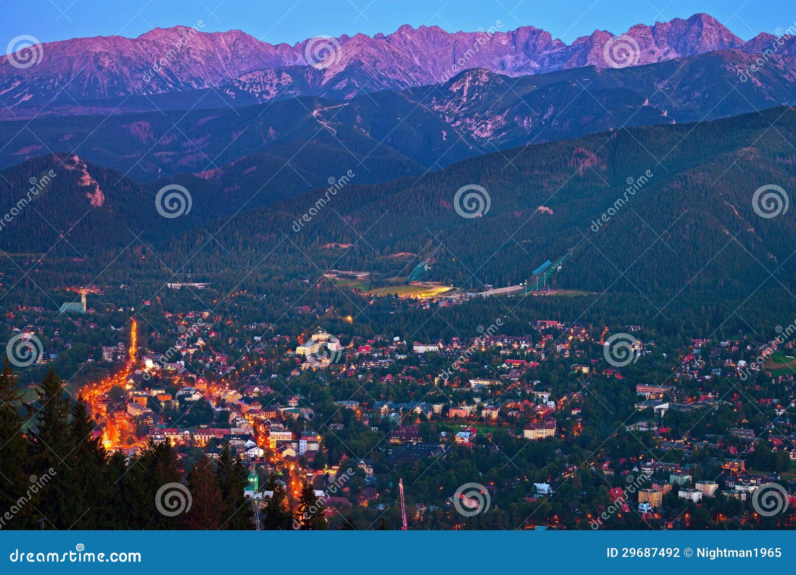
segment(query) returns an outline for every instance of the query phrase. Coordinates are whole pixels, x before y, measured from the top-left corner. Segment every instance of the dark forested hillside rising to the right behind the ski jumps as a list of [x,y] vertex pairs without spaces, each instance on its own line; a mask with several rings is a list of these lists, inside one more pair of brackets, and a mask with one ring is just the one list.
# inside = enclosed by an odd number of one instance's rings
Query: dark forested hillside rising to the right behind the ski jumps
[[[770,130],[775,120],[777,130]],[[200,232],[213,233],[220,245],[208,244],[198,258],[212,266],[223,249],[232,261],[253,262],[274,249],[306,269],[399,272],[403,264],[388,256],[427,256],[439,247],[433,278],[478,289],[516,285],[572,249],[556,279],[572,289],[733,292],[769,271],[780,277],[794,270],[793,212],[763,218],[752,203],[763,185],[794,188],[793,141],[796,111],[777,108],[529,146],[419,180],[346,186],[299,231],[295,223],[322,191],[241,212]],[[453,200],[464,185],[488,192],[482,217],[458,216]],[[618,199],[624,203],[617,207]],[[170,249],[179,258],[197,242],[191,231]],[[330,250],[329,243],[352,245]]]

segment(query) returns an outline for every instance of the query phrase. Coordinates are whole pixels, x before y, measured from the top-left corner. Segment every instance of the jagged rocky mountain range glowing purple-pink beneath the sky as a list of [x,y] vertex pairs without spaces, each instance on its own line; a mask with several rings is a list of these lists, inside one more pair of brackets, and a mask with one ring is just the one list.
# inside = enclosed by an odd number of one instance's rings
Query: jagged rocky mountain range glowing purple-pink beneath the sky
[[638,24],[618,35],[595,30],[571,45],[533,26],[449,33],[403,25],[388,35],[314,37],[293,46],[271,45],[240,30],[205,33],[176,26],[137,38],[26,46],[0,60],[0,101],[14,110],[197,90],[241,103],[297,95],[349,99],[441,84],[468,68],[526,76],[587,65],[623,68],[725,49],[794,54],[796,40],[762,33],[744,42],[708,14]]

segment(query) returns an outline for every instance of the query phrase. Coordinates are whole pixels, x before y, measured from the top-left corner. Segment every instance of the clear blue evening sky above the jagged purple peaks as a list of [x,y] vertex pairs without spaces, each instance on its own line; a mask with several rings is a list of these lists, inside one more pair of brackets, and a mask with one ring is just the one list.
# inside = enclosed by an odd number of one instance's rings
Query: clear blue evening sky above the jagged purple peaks
[[[42,42],[197,25],[242,29],[260,40],[293,44],[320,34],[393,32],[402,24],[448,31],[534,25],[567,43],[607,29],[621,33],[707,12],[747,40],[796,21],[794,0],[0,0],[0,49],[21,34]],[[4,53],[4,52],[3,52]]]

